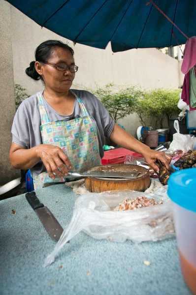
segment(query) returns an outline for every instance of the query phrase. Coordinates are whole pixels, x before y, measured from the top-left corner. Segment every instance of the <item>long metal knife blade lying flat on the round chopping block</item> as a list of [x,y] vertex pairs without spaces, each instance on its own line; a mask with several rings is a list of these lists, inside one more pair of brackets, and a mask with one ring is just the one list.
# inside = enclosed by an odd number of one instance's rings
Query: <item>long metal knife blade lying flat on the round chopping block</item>
[[118,172],[118,171],[69,171],[66,177],[111,177],[111,178],[138,178],[140,172]]

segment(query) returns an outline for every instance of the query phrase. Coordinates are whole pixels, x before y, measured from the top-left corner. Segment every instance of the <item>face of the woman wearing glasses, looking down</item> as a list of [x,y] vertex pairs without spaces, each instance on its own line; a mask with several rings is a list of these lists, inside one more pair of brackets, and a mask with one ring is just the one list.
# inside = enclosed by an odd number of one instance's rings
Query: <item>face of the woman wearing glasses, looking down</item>
[[[49,63],[65,63],[68,67],[75,65],[72,54],[68,49],[56,47],[51,57],[47,60]],[[65,71],[57,70],[49,64],[39,63],[40,75],[42,75],[46,88],[50,88],[56,92],[66,92],[70,89],[75,78],[75,73],[71,73],[69,68]]]

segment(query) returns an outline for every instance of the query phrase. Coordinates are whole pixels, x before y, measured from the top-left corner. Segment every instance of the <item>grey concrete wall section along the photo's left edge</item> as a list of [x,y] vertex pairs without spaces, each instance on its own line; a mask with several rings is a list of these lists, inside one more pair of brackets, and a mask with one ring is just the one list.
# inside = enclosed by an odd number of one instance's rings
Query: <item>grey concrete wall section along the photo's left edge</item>
[[0,185],[17,178],[11,167],[11,125],[15,114],[10,5],[0,0]]

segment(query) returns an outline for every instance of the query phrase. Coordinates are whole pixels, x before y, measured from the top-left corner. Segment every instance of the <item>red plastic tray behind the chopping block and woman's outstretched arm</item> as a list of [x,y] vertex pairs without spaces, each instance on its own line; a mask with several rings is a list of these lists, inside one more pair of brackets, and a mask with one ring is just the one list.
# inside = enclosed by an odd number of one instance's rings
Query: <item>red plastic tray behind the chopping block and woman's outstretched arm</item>
[[127,155],[133,155],[136,157],[143,157],[141,154],[131,151],[126,148],[115,148],[104,151],[104,157],[101,159],[101,164],[121,164],[125,162]]

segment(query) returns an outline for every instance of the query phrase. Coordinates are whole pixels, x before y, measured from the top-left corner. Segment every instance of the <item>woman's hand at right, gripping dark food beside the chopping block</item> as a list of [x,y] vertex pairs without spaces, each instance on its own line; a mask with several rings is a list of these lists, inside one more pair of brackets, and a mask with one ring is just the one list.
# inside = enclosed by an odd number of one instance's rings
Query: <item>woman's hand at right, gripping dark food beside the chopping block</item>
[[156,160],[160,160],[167,169],[169,169],[169,163],[171,162],[171,156],[163,153],[162,151],[156,151],[153,149],[148,149],[142,152],[146,162],[150,165],[156,172],[159,171],[159,167],[155,164]]

